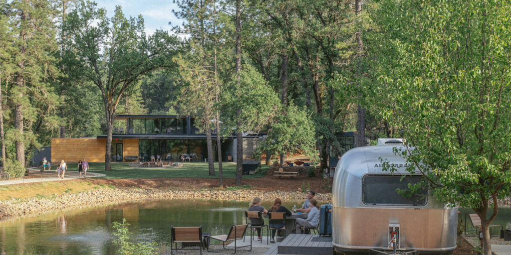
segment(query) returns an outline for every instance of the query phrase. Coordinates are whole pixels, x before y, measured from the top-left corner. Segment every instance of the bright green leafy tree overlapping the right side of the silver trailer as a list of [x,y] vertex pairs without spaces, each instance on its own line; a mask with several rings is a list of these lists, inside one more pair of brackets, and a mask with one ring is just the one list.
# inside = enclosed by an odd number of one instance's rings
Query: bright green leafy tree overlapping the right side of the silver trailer
[[498,199],[511,195],[511,4],[385,0],[373,15],[385,28],[374,103],[406,139],[407,170],[425,176],[410,192],[472,208],[490,255]]

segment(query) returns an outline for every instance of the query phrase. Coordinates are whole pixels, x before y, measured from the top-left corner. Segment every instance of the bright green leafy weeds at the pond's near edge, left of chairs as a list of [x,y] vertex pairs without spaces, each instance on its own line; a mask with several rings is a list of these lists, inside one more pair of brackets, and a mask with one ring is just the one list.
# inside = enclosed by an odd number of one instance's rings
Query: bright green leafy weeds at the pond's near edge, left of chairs
[[119,246],[119,253],[122,255],[153,255],[156,254],[156,248],[158,244],[153,243],[132,243],[130,242],[131,232],[128,229],[130,224],[126,223],[126,219],[123,218],[123,222],[113,222],[112,235],[115,239],[112,241],[114,245]]

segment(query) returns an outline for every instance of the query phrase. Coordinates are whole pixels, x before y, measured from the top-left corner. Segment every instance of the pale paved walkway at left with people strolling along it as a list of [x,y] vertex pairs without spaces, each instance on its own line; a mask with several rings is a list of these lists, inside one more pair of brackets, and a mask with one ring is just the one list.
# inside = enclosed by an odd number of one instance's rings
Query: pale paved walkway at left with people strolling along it
[[[28,177],[23,177],[22,179],[15,179],[9,181],[0,181],[0,186],[24,183],[58,182],[72,179],[80,179],[80,174],[78,173],[78,171],[65,171],[64,179],[57,179],[57,173],[55,171],[41,172],[39,169],[33,168],[29,168],[29,170],[30,175]],[[87,172],[87,178],[101,177],[105,175],[106,174],[103,173]]]

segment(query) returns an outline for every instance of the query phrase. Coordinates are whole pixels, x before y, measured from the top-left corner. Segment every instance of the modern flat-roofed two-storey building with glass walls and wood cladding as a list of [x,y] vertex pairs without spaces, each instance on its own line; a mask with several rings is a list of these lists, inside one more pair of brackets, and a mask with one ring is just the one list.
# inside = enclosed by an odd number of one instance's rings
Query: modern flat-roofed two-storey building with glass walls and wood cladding
[[[205,161],[207,159],[206,135],[200,134],[196,118],[175,115],[119,115],[112,132],[110,150],[112,162],[150,161],[158,155],[164,161]],[[197,120],[198,121],[198,120]],[[119,123],[121,122],[121,123]],[[107,135],[96,138],[53,138],[52,161],[104,162]],[[214,139],[216,138],[216,135]],[[259,135],[243,138],[243,158],[249,159],[261,140]],[[213,140],[216,156],[216,140]],[[236,136],[224,137],[221,142],[222,160],[236,161]]]

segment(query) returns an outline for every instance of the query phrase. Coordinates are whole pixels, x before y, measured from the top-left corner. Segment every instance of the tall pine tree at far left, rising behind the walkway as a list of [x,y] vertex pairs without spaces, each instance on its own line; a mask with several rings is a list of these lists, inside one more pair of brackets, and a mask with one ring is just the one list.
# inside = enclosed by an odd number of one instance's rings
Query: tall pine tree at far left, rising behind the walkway
[[[10,93],[14,105],[16,160],[25,166],[26,149],[37,145],[38,133],[54,122],[55,98],[50,82],[57,75],[54,53],[57,50],[50,1],[20,0],[11,3],[15,39],[15,84]],[[43,119],[48,125],[42,125]]]

